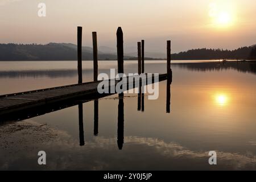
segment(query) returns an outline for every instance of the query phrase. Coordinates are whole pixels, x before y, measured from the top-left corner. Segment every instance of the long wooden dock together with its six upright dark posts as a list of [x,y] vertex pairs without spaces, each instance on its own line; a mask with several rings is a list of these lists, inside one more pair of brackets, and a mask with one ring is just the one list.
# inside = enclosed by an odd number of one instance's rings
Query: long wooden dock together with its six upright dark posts
[[[98,56],[97,56],[97,32],[93,32],[93,82],[82,83],[82,27],[77,27],[77,71],[78,83],[74,85],[65,85],[54,88],[46,88],[40,90],[31,90],[27,92],[6,94],[0,96],[0,121],[10,119],[21,119],[26,117],[35,117],[54,110],[63,109],[65,107],[81,104],[88,100],[105,97],[110,94],[99,94],[97,87],[101,81],[97,81],[98,75]],[[167,41],[167,73],[159,75],[159,81],[172,80],[171,73],[171,41]],[[118,73],[123,72],[123,32],[122,28],[117,29],[117,67]],[[144,73],[144,40],[138,42],[138,73]],[[146,83],[148,80],[146,73]],[[170,78],[170,79],[169,79]],[[144,78],[145,79],[145,78]],[[110,81],[110,80],[109,80]],[[127,79],[128,85],[135,81]],[[140,80],[140,86],[143,80]],[[114,81],[114,86],[119,81]],[[154,83],[154,80],[152,80]],[[113,85],[109,85],[110,87]],[[131,89],[131,88],[129,88]],[[141,90],[141,87],[140,89]],[[113,93],[112,93],[113,94]],[[82,100],[81,101],[81,97]],[[143,110],[143,109],[142,109]],[[18,115],[21,115],[20,117]]]

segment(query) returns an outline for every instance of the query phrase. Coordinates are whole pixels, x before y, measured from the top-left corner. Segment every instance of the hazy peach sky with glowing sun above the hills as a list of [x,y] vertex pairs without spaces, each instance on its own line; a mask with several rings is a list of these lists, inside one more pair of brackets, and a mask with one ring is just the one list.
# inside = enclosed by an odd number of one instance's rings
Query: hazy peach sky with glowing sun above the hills
[[[38,4],[46,4],[46,17]],[[115,47],[121,26],[125,48],[145,40],[145,51],[172,52],[191,48],[228,48],[256,44],[255,0],[0,0],[0,43],[76,43]]]

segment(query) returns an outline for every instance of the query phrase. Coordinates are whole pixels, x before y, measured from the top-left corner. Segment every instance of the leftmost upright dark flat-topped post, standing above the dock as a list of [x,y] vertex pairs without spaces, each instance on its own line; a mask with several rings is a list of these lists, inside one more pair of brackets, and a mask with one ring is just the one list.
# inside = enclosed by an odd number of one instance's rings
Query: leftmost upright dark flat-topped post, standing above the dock
[[79,75],[78,83],[82,83],[82,27],[77,27],[77,70]]

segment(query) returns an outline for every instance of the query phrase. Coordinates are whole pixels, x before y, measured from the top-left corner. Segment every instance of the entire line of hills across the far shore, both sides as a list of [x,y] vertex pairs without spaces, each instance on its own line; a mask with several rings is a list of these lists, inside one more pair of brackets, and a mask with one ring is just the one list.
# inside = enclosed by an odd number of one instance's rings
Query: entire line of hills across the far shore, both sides
[[[156,57],[155,57],[156,56]],[[158,57],[159,56],[159,57]],[[163,53],[145,52],[145,60],[164,59]],[[233,51],[223,49],[191,49],[174,53],[172,60],[211,60],[211,59],[256,59],[256,46],[242,47]],[[76,60],[77,46],[71,43],[42,44],[0,44],[0,61],[36,60]],[[93,49],[82,47],[82,59],[93,60]],[[116,60],[114,49],[99,47],[99,60]],[[137,60],[137,53],[125,55],[125,60]]]

